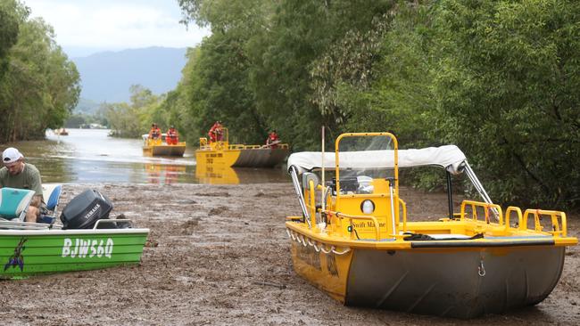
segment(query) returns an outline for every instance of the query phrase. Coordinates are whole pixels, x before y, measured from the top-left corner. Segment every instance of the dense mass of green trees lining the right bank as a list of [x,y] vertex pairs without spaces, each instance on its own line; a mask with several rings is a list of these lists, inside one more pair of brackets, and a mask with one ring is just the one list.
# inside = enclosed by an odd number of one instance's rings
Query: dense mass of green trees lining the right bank
[[455,143],[503,203],[580,207],[580,3],[179,0],[211,28],[168,110],[190,138],[221,119],[294,151],[345,131]]

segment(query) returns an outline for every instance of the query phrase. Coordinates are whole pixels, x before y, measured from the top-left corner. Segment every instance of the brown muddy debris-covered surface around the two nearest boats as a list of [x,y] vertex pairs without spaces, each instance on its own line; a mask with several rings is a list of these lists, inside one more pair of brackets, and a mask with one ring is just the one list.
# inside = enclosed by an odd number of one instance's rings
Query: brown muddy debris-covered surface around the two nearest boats
[[[298,215],[290,183],[211,186],[66,185],[108,195],[112,216],[151,229],[141,265],[0,281],[0,324],[34,325],[460,325],[435,316],[342,306],[296,276],[285,216]],[[444,194],[402,190],[423,213],[445,215]],[[410,206],[410,217],[418,216]],[[580,216],[568,216],[578,236]],[[155,244],[158,244],[155,247]],[[580,324],[580,249],[541,304],[473,325]]]

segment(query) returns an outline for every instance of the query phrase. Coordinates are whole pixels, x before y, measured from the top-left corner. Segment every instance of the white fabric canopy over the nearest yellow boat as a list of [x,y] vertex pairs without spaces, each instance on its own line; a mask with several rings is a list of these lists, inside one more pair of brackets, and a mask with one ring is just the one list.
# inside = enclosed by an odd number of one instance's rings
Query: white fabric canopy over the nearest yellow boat
[[[465,154],[455,145],[427,147],[418,150],[399,150],[399,167],[443,167],[452,174],[460,173],[460,164],[466,160]],[[324,153],[324,167],[336,167],[335,152]],[[392,168],[394,151],[341,151],[341,168]],[[320,151],[302,151],[290,155],[288,168],[296,167],[298,173],[322,167]]]

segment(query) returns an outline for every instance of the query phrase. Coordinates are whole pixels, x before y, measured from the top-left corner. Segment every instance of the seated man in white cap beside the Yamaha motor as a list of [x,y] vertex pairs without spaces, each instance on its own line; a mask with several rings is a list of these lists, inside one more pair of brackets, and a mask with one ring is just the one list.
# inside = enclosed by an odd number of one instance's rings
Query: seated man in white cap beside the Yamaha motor
[[40,172],[32,164],[24,163],[24,156],[13,147],[4,150],[2,163],[4,167],[0,168],[0,188],[29,189],[36,192],[26,212],[26,222],[37,222],[42,206]]

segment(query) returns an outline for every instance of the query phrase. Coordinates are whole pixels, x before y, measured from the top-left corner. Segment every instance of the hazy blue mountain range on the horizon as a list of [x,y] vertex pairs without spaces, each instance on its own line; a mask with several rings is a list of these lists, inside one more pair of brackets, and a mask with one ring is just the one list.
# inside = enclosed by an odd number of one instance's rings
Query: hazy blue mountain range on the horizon
[[166,93],[178,85],[186,51],[153,46],[71,58],[81,78],[79,102],[128,102],[132,85],[144,86],[153,94]]

